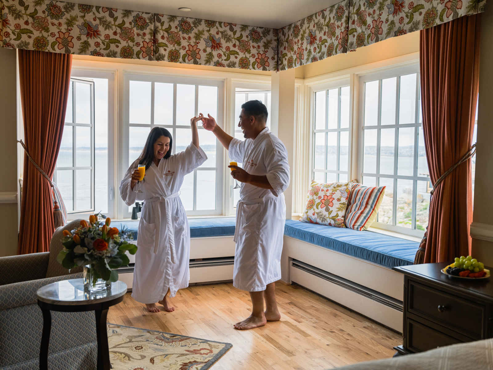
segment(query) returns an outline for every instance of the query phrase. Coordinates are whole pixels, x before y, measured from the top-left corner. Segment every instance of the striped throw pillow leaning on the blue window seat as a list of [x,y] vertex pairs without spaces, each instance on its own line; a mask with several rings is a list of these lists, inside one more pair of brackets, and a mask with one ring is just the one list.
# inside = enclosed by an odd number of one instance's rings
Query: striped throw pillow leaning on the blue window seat
[[346,226],[353,230],[367,230],[377,218],[384,193],[385,186],[353,184],[346,210]]

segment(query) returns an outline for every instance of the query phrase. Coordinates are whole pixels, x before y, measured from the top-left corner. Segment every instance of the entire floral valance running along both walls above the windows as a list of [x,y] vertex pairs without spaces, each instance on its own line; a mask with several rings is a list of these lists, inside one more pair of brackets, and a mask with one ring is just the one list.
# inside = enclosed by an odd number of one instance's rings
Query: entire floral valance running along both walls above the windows
[[56,0],[0,0],[0,46],[283,71],[484,11],[486,0],[344,0],[281,29]]

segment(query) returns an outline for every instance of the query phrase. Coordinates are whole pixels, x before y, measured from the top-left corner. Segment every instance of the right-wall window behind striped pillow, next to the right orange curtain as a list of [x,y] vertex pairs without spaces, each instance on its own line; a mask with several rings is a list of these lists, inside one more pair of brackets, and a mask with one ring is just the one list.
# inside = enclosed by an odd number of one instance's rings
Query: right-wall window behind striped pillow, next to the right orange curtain
[[361,78],[364,185],[385,185],[378,225],[423,233],[430,183],[424,150],[418,67]]

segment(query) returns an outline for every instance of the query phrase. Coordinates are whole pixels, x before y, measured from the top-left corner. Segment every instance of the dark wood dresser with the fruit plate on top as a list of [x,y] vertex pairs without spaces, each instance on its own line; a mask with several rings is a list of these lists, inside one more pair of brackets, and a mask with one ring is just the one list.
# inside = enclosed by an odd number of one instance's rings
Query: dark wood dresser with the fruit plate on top
[[403,343],[396,355],[493,337],[491,278],[451,278],[440,272],[450,263],[393,268],[404,274]]

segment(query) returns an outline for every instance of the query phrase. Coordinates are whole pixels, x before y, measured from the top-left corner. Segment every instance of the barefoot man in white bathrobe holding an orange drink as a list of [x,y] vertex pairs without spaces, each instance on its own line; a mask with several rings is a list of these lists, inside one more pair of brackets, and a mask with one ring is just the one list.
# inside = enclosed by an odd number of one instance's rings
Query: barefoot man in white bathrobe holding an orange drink
[[225,133],[211,115],[202,119],[203,127],[228,149],[230,158],[244,166],[229,166],[231,176],[242,183],[236,211],[233,286],[250,292],[252,312],[235,324],[236,329],[257,328],[281,318],[275,282],[281,279],[286,218],[283,191],[289,185],[289,164],[286,147],[265,126],[267,115],[267,108],[258,100],[242,105],[238,127],[243,129],[245,141]]

